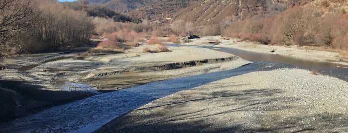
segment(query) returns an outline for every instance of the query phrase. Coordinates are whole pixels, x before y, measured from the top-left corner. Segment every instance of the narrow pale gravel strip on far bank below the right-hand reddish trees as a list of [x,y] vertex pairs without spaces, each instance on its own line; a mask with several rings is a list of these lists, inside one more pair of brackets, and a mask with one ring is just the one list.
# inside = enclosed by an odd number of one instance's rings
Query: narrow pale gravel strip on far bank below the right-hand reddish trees
[[[292,46],[272,46],[272,45],[263,45],[256,42],[242,41],[234,38],[224,38],[221,36],[204,36],[199,39],[192,39],[193,42],[186,43],[183,45],[197,45],[197,46],[212,46],[209,42],[212,40],[220,42],[214,47],[219,48],[234,48],[244,51],[263,53],[263,54],[274,54],[281,55],[285,57],[303,59],[308,61],[315,62],[330,62],[338,65],[348,66],[348,55],[344,52],[333,52],[333,51],[321,51],[315,50],[315,47],[298,45]],[[319,49],[319,47],[317,48]]]

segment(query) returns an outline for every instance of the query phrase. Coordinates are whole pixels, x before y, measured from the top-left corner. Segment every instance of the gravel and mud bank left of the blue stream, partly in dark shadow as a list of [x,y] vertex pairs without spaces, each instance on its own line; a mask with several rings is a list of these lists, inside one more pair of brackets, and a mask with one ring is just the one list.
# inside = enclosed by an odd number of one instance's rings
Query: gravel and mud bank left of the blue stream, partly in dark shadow
[[[95,53],[81,60],[72,59],[79,53],[64,52],[3,60],[13,67],[0,70],[1,121],[104,92],[250,63],[204,48],[169,47],[169,52],[143,53],[145,47],[157,46],[141,45],[124,53]],[[167,70],[180,67],[178,71]],[[168,72],[172,74],[162,74]]]

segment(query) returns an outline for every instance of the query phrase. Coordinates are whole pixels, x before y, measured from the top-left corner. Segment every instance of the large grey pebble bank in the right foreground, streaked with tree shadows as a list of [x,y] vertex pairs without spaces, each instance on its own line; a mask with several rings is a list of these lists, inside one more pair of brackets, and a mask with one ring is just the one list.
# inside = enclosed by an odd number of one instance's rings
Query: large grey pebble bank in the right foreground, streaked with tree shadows
[[255,71],[155,100],[96,133],[348,132],[347,86],[303,69]]

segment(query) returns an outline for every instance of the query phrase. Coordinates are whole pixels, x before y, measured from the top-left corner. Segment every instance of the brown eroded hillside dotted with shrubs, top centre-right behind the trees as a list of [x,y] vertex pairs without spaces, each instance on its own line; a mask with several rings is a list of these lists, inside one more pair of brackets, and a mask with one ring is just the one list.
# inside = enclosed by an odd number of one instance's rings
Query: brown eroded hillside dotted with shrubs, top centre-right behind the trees
[[199,0],[170,17],[200,24],[218,24],[224,19],[238,21],[273,16],[290,5],[305,4],[303,1],[306,0]]

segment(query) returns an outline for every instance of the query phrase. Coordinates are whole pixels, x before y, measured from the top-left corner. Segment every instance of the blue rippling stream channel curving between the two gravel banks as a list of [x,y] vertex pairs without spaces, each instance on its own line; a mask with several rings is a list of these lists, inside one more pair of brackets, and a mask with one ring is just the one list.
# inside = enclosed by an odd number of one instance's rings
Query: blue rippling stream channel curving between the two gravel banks
[[[225,52],[233,51],[230,49],[221,50]],[[232,52],[232,54],[235,53]],[[248,55],[250,56],[251,54]],[[260,55],[256,56],[260,57]],[[252,71],[273,70],[287,67],[316,68],[320,71],[324,71],[324,73],[332,74],[335,77],[347,81],[348,70],[344,68],[326,67],[326,65],[320,67],[303,65],[307,62],[300,63],[300,65],[289,65],[292,63],[288,62],[277,63],[272,60],[253,62],[252,64],[232,70],[148,83],[52,107],[37,114],[3,123],[0,125],[0,133],[93,132],[116,117],[161,97]]]

